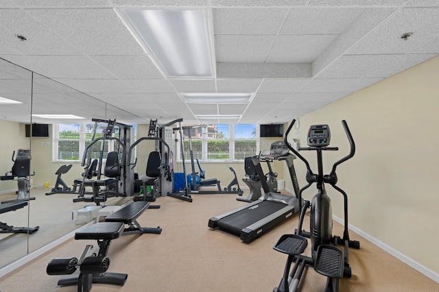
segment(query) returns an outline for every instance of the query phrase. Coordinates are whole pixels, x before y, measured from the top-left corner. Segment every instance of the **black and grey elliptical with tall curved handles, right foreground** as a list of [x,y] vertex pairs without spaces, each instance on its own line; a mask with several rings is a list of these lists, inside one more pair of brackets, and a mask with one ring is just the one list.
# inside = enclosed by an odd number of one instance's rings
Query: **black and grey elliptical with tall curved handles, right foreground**
[[[327,276],[327,284],[324,289],[325,292],[340,291],[340,278],[343,276],[351,277],[351,267],[348,263],[348,247],[359,248],[358,241],[349,240],[348,234],[348,197],[346,193],[336,186],[337,174],[335,169],[337,165],[352,158],[355,154],[355,143],[353,141],[351,132],[349,131],[346,121],[342,121],[344,131],[348,137],[349,144],[351,145],[351,152],[344,158],[334,163],[331,173],[324,175],[322,151],[337,151],[338,147],[327,147],[331,139],[331,132],[328,125],[311,125],[308,132],[308,146],[300,147],[298,150],[316,151],[317,152],[317,164],[318,173],[315,174],[309,167],[309,162],[301,156],[296,149],[292,148],[287,143],[287,136],[292,129],[296,120],[293,120],[289,125],[287,132],[284,136],[285,144],[293,151],[294,154],[300,160],[305,162],[307,167],[306,179],[308,184],[302,187],[298,193],[299,202],[302,199],[302,191],[309,188],[311,184],[316,182],[317,194],[314,195],[311,206],[308,201],[304,201],[302,210],[300,212],[298,228],[294,234],[284,234],[281,239],[274,245],[274,250],[288,254],[287,263],[283,273],[283,278],[278,285],[274,288],[274,292],[292,292],[296,291],[299,285],[300,277],[306,266],[313,266],[314,270]],[[327,195],[324,184],[331,184],[335,190],[342,193],[344,196],[344,234],[343,239],[339,236],[333,236],[332,234],[332,209],[331,199]],[[311,208],[310,215],[310,232],[302,230],[302,223],[305,217],[307,209]],[[305,237],[311,239],[311,257],[303,256],[302,252],[305,251],[308,241]],[[344,244],[344,252],[337,247],[337,244]],[[294,267],[289,273],[289,269],[294,262]]]

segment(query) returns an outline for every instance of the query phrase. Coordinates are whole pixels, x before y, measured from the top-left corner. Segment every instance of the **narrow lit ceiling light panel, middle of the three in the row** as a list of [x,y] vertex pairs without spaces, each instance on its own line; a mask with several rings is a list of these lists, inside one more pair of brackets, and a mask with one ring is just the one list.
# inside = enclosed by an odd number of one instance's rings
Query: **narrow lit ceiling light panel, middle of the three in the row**
[[182,93],[189,104],[245,104],[252,93]]

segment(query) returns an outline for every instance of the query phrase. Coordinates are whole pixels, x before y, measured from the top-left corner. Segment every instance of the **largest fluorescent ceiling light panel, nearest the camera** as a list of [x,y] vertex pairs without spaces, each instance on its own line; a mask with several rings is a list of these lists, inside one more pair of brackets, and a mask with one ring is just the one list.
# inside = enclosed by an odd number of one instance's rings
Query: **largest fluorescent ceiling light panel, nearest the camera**
[[213,77],[206,10],[124,10],[168,77]]

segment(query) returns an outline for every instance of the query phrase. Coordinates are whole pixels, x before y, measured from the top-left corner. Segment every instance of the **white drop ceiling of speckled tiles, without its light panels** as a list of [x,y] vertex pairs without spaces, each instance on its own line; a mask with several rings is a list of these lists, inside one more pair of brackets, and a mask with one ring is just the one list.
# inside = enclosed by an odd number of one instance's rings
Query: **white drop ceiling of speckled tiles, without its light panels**
[[[128,27],[130,9],[205,10],[213,77],[167,77]],[[86,119],[99,99],[159,123],[285,123],[438,54],[435,0],[0,0],[0,58],[85,94],[54,88],[35,110],[81,115],[60,110],[81,101]],[[191,104],[184,93],[252,98]],[[219,118],[197,118],[206,114]]]

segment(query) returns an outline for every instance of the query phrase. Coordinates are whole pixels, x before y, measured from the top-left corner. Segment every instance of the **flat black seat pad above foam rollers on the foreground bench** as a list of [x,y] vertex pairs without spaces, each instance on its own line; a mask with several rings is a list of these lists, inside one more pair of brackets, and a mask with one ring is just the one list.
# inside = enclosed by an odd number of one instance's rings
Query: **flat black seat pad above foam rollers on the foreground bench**
[[99,222],[75,233],[75,239],[117,239],[125,225],[122,222]]

